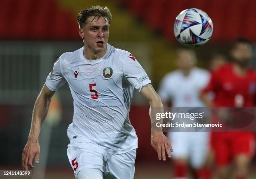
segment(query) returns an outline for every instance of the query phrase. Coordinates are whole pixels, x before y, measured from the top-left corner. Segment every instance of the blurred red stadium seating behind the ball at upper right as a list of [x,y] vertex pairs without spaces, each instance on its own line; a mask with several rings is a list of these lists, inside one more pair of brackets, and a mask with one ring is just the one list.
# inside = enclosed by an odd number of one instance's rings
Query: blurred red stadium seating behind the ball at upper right
[[[132,12],[140,15],[151,29],[160,29],[167,38],[174,39],[173,24],[175,17],[187,8],[199,8],[204,10],[212,18],[214,33],[213,41],[233,41],[239,36],[245,36],[251,40],[256,40],[253,32],[256,24],[255,0],[233,0],[230,1],[214,0],[124,0]],[[146,4],[146,5],[145,5]],[[143,13],[142,13],[143,12]]]

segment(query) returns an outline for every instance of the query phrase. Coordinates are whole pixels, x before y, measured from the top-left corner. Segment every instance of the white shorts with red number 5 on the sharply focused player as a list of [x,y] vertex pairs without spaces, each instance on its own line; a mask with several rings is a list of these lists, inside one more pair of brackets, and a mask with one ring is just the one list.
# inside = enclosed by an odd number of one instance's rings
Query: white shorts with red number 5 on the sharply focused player
[[133,179],[136,149],[112,154],[84,138],[72,139],[67,156],[76,179]]

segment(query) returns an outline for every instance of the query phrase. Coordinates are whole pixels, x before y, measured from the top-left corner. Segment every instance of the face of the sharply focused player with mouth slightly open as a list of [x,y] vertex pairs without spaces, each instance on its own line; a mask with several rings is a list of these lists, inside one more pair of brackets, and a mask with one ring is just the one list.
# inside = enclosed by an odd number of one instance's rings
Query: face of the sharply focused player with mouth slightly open
[[82,29],[79,29],[79,35],[84,40],[84,46],[99,53],[107,47],[109,24],[104,17],[95,18],[94,16],[87,18],[87,23]]

